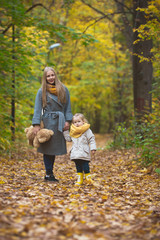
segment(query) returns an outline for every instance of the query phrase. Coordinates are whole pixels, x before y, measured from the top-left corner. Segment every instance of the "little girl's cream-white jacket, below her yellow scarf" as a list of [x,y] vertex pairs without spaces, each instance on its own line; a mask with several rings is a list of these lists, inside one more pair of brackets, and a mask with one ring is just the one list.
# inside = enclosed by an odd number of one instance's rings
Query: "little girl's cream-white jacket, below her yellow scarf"
[[82,159],[86,161],[91,160],[90,151],[96,150],[95,136],[92,130],[89,128],[80,137],[74,138],[70,137],[69,131],[63,132],[66,141],[73,143],[70,151],[70,159]]

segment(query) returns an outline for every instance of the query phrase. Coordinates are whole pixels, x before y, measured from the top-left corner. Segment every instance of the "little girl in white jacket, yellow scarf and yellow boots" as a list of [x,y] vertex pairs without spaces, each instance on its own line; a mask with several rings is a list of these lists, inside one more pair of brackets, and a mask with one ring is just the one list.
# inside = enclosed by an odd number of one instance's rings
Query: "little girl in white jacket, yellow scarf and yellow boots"
[[90,129],[90,124],[88,124],[84,115],[81,113],[76,113],[72,119],[72,125],[69,131],[63,132],[66,141],[73,143],[70,151],[70,159],[75,162],[77,169],[77,182],[76,185],[81,185],[83,183],[83,172],[85,174],[85,179],[91,180],[89,161],[91,160],[91,154],[96,152],[96,142],[95,137]]

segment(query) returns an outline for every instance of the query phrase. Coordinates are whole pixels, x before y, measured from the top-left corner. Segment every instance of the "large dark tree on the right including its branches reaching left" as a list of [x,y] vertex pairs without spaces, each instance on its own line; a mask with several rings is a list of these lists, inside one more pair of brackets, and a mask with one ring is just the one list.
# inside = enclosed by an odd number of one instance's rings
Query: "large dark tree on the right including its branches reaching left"
[[[100,14],[103,19],[112,21],[116,28],[121,29],[126,39],[126,45],[132,52],[134,109],[136,116],[140,119],[146,112],[151,112],[152,110],[152,40],[140,39],[136,30],[139,26],[147,23],[148,18],[143,9],[147,8],[150,1],[133,0],[128,2],[125,0],[113,0],[116,11],[112,11],[109,14],[97,7],[99,3],[104,3],[104,1],[94,1],[94,3],[87,0],[81,1]],[[107,4],[108,1],[106,1]],[[119,22],[114,19],[116,15],[119,16]]]

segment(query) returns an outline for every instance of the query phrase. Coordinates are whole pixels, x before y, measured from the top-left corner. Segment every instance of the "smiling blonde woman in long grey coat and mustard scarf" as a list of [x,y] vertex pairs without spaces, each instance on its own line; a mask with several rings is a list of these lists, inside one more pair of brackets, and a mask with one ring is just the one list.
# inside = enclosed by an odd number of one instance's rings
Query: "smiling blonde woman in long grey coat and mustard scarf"
[[42,87],[38,90],[35,100],[32,119],[35,134],[40,130],[41,120],[44,128],[54,131],[51,139],[42,143],[38,148],[38,152],[43,153],[46,170],[44,179],[57,182],[58,180],[53,175],[55,156],[67,153],[63,131],[69,129],[72,112],[69,91],[51,67],[44,69]]

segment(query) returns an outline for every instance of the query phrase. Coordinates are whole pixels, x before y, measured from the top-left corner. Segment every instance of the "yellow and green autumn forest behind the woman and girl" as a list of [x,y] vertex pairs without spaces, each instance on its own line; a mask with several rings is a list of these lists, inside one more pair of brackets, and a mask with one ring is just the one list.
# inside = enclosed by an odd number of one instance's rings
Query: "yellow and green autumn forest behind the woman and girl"
[[26,144],[50,65],[73,113],[94,133],[112,133],[109,147],[135,147],[160,172],[160,1],[1,0],[0,9],[1,153]]

